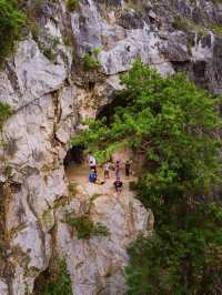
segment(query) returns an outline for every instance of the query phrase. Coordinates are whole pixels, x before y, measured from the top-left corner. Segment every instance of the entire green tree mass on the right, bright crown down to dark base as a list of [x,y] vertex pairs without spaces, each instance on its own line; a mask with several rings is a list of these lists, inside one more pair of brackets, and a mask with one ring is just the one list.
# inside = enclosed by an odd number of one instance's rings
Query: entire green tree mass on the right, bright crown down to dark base
[[152,208],[155,228],[129,248],[129,294],[220,294],[220,100],[184,74],[161,78],[141,61],[121,81],[127,106],[117,108],[109,124],[88,122],[73,144],[84,144],[101,161],[120,145],[145,157],[134,189]]

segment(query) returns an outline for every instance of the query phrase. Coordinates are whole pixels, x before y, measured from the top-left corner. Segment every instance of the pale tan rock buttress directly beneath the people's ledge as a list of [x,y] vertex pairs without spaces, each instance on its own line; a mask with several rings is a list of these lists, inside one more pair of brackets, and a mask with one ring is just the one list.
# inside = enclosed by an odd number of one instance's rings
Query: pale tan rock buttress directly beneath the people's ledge
[[[98,196],[89,205],[94,192]],[[105,225],[110,235],[78,240],[68,224],[59,222],[58,247],[67,260],[73,294],[125,294],[125,248],[139,232],[147,234],[152,230],[151,211],[147,211],[128,190],[117,196],[108,184],[95,187],[84,184],[77,187],[74,200],[59,212],[58,220],[64,220],[65,211],[81,215],[82,208],[88,208],[93,222]]]

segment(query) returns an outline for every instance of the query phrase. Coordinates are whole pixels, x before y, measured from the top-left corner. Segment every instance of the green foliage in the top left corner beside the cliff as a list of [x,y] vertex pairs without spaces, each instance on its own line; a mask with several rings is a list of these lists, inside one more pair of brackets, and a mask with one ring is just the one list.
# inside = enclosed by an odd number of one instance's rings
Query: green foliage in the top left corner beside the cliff
[[21,29],[26,16],[16,0],[0,0],[0,65],[14,48],[14,41],[21,39]]

